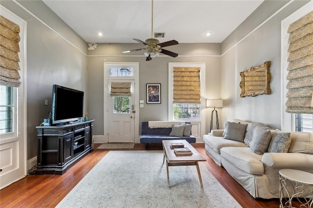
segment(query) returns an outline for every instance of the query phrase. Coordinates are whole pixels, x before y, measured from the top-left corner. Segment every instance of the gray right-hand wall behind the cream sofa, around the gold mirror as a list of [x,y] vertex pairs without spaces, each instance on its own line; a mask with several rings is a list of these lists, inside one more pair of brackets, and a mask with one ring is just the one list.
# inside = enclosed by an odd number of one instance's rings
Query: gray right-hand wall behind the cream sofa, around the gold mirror
[[[223,121],[243,119],[281,128],[281,112],[284,110],[281,109],[281,21],[309,1],[296,0],[292,2],[243,41],[239,41],[287,2],[264,1],[222,43],[221,93],[224,99]],[[238,44],[235,45],[236,43]],[[226,52],[233,45],[235,47]],[[266,61],[271,61],[271,94],[240,98],[241,88],[239,83],[241,77],[239,73]]]

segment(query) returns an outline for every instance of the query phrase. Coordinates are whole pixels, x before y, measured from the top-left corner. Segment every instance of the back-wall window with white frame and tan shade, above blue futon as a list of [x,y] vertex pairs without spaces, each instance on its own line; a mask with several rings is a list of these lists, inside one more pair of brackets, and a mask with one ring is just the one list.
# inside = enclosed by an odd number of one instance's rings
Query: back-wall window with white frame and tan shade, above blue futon
[[169,64],[169,121],[201,122],[204,119],[205,64]]

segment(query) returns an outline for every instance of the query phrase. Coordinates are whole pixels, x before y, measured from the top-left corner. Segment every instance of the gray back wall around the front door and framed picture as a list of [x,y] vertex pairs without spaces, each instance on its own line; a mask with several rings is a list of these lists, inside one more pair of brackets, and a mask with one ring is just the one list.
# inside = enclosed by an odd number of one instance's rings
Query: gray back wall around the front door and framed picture
[[[161,83],[161,104],[144,104],[144,108],[139,108],[139,124],[142,121],[167,121],[168,119],[169,62],[204,62],[206,65],[206,98],[220,98],[221,66],[219,55],[221,47],[219,43],[182,43],[166,48],[167,50],[179,53],[179,56],[186,57],[156,57],[149,62],[145,61],[146,58],[144,56],[132,57],[132,55],[143,55],[142,51],[131,53],[129,54],[131,56],[128,57],[122,57],[122,55],[125,55],[122,51],[141,47],[142,45],[140,43],[98,44],[95,50],[88,52],[88,115],[90,118],[96,120],[94,123],[94,135],[104,134],[104,62],[139,62],[139,100],[146,100],[146,83]],[[207,121],[207,124],[209,124],[209,121]],[[207,125],[205,132],[208,132],[208,129],[209,126]]]

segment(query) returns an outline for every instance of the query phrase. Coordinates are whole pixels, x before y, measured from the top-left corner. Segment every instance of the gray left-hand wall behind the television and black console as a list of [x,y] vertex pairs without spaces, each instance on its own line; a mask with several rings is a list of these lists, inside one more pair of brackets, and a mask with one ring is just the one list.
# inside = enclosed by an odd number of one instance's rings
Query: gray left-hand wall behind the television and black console
[[[87,44],[42,1],[19,1],[22,6],[87,53]],[[48,29],[10,0],[0,4],[27,22],[27,158],[37,156],[36,126],[51,111],[52,85],[59,84],[87,92],[87,56]],[[85,109],[88,109],[88,93]],[[49,105],[44,105],[45,99]]]

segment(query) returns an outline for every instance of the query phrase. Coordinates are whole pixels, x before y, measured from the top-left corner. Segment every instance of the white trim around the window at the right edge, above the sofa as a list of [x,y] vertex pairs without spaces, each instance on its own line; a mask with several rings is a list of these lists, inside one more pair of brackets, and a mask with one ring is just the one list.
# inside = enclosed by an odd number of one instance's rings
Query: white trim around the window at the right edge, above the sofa
[[283,131],[295,131],[295,116],[293,113],[287,113],[285,111],[286,109],[286,94],[288,92],[287,89],[287,67],[288,67],[288,38],[289,34],[287,33],[288,27],[291,23],[294,21],[299,20],[306,14],[310,13],[313,11],[313,1],[310,1],[294,13],[292,13],[290,16],[285,18],[281,22],[281,130]]

